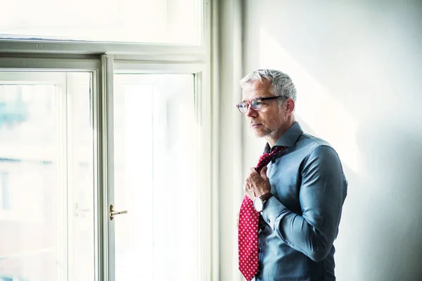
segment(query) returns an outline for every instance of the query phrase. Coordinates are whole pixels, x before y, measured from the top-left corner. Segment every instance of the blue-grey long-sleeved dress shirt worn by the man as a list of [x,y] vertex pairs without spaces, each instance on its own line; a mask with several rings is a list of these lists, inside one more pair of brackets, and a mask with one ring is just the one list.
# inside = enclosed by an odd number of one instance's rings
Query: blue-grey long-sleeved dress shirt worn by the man
[[298,122],[277,145],[287,148],[267,170],[274,197],[260,216],[255,280],[335,280],[333,241],[347,194],[340,159],[326,141],[303,133]]

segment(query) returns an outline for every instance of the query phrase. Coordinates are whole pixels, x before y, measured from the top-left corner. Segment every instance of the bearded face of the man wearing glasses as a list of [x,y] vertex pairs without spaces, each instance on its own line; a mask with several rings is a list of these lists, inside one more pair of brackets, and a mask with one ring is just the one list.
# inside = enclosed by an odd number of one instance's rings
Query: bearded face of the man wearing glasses
[[[254,81],[245,84],[242,91],[243,101],[250,102],[254,98],[274,96],[269,91],[270,87],[271,83],[268,81]],[[250,129],[258,137],[275,143],[281,137],[281,133],[284,131],[283,125],[286,124],[286,109],[283,110],[284,107],[284,105],[279,105],[278,99],[263,100],[259,110],[254,110],[249,106],[245,116]]]

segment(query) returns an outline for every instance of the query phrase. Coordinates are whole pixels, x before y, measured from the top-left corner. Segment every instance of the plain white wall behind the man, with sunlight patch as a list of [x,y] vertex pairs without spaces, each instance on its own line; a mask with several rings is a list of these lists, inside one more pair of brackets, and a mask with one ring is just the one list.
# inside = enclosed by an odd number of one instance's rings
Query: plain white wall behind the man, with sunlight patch
[[[343,160],[350,186],[338,280],[422,280],[422,1],[245,0],[243,8],[244,74],[290,74],[302,127]],[[263,148],[244,129],[243,173]]]

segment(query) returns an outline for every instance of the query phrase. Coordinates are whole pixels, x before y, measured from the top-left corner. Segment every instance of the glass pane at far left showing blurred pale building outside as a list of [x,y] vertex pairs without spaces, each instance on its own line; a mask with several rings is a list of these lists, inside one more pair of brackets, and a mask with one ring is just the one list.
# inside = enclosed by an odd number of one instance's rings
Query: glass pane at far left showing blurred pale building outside
[[9,190],[8,209],[0,210],[4,278],[58,275],[54,93],[53,85],[0,85],[0,169],[2,190]]

